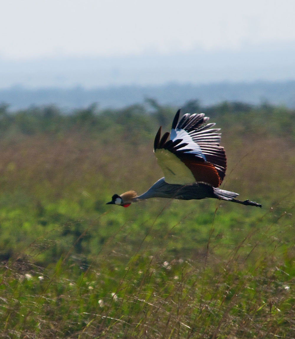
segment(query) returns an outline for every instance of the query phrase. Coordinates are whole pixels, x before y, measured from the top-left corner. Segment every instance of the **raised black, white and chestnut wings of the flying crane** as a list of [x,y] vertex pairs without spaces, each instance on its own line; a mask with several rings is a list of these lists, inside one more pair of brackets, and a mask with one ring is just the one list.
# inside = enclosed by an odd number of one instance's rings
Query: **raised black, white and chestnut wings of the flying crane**
[[[211,128],[204,114],[185,114],[179,120],[180,109],[172,123],[171,133],[161,127],[155,137],[154,152],[165,181],[170,184],[206,182],[218,187],[226,170],[226,156],[220,143],[220,129]],[[170,136],[170,138],[169,138]]]

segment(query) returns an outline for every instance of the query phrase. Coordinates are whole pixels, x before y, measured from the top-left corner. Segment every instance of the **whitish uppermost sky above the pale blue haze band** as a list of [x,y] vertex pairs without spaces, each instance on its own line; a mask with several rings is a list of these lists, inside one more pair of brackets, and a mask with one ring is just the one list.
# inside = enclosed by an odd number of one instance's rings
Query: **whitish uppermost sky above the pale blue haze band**
[[0,10],[8,60],[295,43],[295,0],[9,0]]

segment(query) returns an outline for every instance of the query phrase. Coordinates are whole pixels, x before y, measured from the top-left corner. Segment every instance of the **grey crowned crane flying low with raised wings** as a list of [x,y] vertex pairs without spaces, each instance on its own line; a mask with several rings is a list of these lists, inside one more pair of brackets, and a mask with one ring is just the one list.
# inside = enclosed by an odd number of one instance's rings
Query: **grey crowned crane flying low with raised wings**
[[215,198],[262,207],[257,202],[234,199],[239,194],[218,188],[226,170],[224,148],[219,145],[220,128],[211,128],[215,123],[204,125],[209,118],[203,113],[185,114],[178,122],[179,115],[180,109],[170,133],[164,133],[161,138],[161,126],[155,137],[154,153],[164,177],[139,196],[135,191],[114,194],[107,204],[128,207],[133,202],[149,198]]

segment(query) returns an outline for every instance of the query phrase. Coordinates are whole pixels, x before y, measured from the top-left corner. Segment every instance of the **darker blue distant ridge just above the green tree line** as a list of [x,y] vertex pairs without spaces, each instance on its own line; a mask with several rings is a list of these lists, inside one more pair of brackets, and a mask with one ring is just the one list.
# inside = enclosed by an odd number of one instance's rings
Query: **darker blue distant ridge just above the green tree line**
[[211,83],[203,85],[170,83],[158,86],[124,85],[108,88],[36,88],[21,86],[0,89],[0,105],[8,105],[9,111],[36,106],[56,106],[67,113],[73,109],[93,104],[98,109],[120,109],[134,104],[144,104],[145,99],[156,100],[160,105],[182,107],[188,101],[197,100],[204,106],[227,102],[246,104],[271,104],[295,107],[295,80],[283,82]]

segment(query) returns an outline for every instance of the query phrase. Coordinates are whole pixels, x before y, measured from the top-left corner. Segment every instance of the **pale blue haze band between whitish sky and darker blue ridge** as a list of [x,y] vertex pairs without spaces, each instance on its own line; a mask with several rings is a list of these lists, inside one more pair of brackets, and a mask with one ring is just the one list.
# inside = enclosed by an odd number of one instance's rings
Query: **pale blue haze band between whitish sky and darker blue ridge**
[[0,58],[0,88],[285,81],[295,79],[294,55],[295,43],[281,42],[247,45],[235,51],[194,49],[113,57]]

